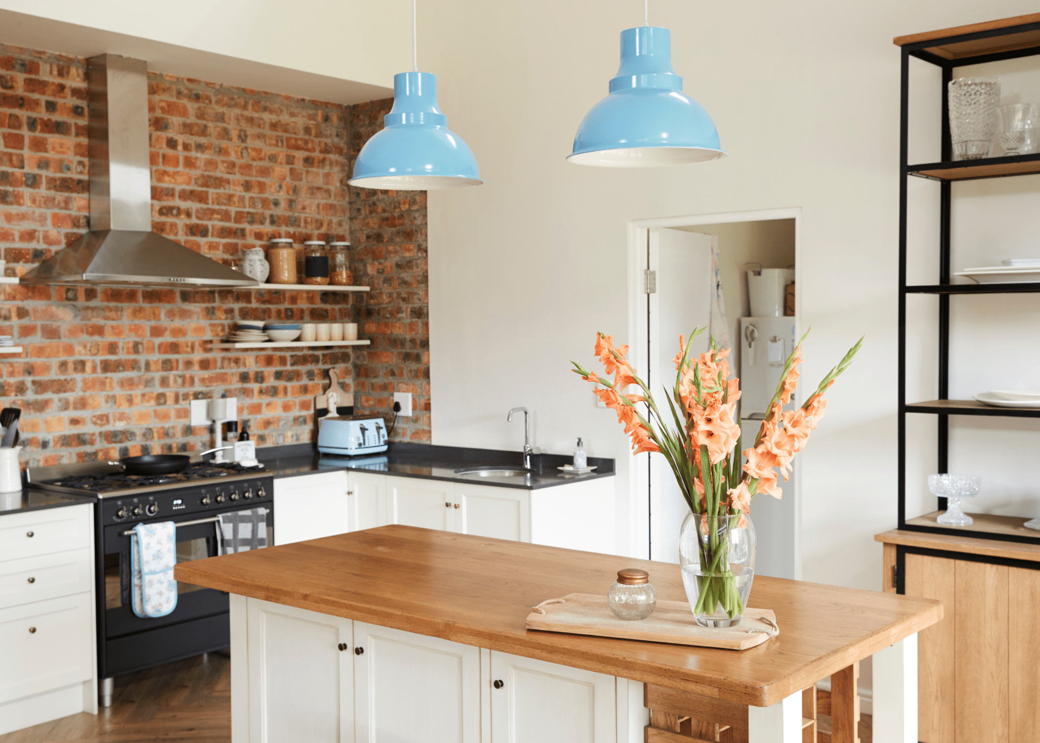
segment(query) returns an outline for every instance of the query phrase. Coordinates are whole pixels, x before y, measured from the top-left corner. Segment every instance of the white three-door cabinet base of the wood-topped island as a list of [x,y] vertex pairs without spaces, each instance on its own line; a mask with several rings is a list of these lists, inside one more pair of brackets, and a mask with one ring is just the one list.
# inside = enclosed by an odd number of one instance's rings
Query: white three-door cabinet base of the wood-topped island
[[635,682],[238,595],[231,633],[233,743],[643,740]]

